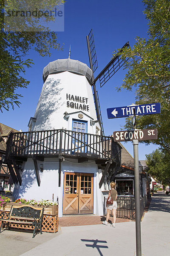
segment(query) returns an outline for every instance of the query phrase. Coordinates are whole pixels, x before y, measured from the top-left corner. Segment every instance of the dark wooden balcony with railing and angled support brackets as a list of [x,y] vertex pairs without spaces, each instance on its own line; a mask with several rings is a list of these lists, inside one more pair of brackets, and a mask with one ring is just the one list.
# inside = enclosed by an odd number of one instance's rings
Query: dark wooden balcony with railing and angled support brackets
[[113,137],[95,134],[63,129],[17,132],[10,134],[6,144],[6,163],[9,172],[13,181],[19,182],[20,185],[22,179],[18,164],[27,161],[29,157],[34,161],[38,186],[40,186],[40,174],[37,160],[44,161],[45,157],[59,158],[59,186],[61,186],[61,162],[64,158],[76,158],[78,163],[93,160],[99,168],[103,169],[104,166],[105,171],[99,187],[102,186],[109,168],[111,170],[117,168],[116,166],[120,166],[121,163],[121,146],[113,141]]

